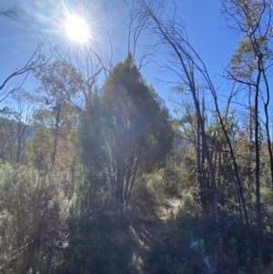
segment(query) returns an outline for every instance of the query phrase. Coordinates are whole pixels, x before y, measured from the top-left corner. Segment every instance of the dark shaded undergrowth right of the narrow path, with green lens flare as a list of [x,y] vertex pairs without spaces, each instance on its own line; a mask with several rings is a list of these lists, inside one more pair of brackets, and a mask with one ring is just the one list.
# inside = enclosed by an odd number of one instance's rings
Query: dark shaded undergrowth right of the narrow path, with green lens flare
[[213,218],[193,217],[187,208],[180,208],[157,229],[147,273],[263,273],[258,270],[257,250],[247,249],[238,224],[226,223],[220,239],[214,226]]

